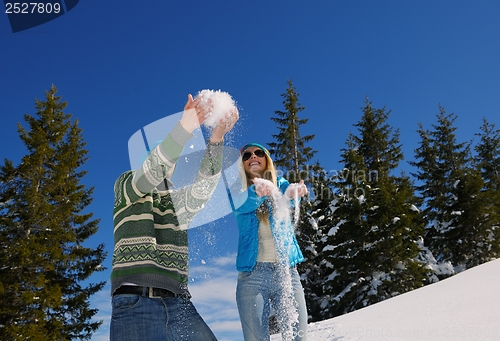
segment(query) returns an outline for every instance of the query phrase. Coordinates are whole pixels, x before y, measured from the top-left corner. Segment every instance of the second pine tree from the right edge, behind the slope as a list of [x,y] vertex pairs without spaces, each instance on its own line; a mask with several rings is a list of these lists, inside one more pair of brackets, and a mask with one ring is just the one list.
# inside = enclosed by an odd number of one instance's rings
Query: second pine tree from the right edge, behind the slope
[[[418,171],[413,174],[423,201],[426,218],[425,244],[439,263],[449,263],[454,271],[466,269],[474,262],[472,249],[475,235],[486,222],[483,181],[473,167],[470,143],[456,140],[455,114],[439,107],[437,125],[418,130],[421,142],[416,149]],[[441,277],[453,274],[444,273]]]

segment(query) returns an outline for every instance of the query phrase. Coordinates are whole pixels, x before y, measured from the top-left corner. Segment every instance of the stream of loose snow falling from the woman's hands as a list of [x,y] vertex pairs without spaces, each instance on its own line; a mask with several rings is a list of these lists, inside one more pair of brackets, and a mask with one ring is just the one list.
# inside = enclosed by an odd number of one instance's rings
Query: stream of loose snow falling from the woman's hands
[[[274,307],[274,311],[283,341],[294,340],[297,331],[294,331],[293,327],[298,325],[299,314],[293,293],[290,260],[288,258],[289,248],[292,246],[292,243],[285,243],[285,240],[295,233],[295,226],[300,214],[299,205],[295,205],[294,222],[292,223],[290,212],[291,198],[288,195],[283,195],[269,180],[254,178],[253,183],[256,190],[261,187],[272,188],[270,198],[274,218],[274,235],[276,236],[276,248],[280,258],[277,276],[279,276],[283,292],[281,306]],[[294,191],[294,199],[298,203],[298,189]]]

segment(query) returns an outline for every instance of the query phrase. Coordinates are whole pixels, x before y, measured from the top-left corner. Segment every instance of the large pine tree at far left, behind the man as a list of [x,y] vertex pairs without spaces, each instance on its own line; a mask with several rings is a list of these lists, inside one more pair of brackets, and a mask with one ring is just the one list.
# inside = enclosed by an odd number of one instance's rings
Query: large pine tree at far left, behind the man
[[88,300],[105,282],[88,279],[104,270],[104,245],[83,245],[99,223],[84,212],[93,192],[80,183],[88,151],[56,93],[52,86],[36,100],[28,130],[18,126],[28,154],[0,168],[1,340],[86,340],[102,323],[91,321],[97,309]]

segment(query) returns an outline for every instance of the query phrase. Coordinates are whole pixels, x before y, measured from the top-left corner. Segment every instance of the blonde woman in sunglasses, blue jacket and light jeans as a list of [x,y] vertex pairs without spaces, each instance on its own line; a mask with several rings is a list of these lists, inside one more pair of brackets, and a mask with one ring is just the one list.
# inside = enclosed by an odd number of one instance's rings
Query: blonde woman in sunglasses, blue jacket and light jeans
[[269,151],[258,143],[241,149],[241,191],[233,196],[239,240],[236,302],[245,341],[269,340],[271,307],[283,340],[306,340],[307,309],[296,264],[304,260],[290,205],[307,193],[304,182],[276,176]]

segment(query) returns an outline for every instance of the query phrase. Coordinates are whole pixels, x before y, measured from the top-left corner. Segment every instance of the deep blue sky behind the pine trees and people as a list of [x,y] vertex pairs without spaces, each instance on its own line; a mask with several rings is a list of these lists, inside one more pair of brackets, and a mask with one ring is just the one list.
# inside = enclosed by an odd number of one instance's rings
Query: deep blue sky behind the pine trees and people
[[[4,12],[4,11],[3,11]],[[95,186],[89,210],[101,219],[89,245],[111,254],[113,183],[129,166],[127,143],[141,127],[182,110],[188,93],[221,89],[241,119],[226,143],[271,142],[270,120],[293,80],[326,170],[361,117],[366,96],[392,110],[405,160],[416,130],[431,129],[438,104],[458,116],[459,142],[483,117],[500,126],[500,3],[484,1],[80,1],[67,14],[12,33],[0,14],[0,156],[16,164],[27,151],[17,124],[52,84],[80,122]],[[167,133],[167,132],[166,132]],[[221,340],[241,340],[234,305],[236,226],[231,216],[190,230],[191,291]],[[94,280],[107,280],[108,271]],[[105,320],[109,287],[93,299]]]

